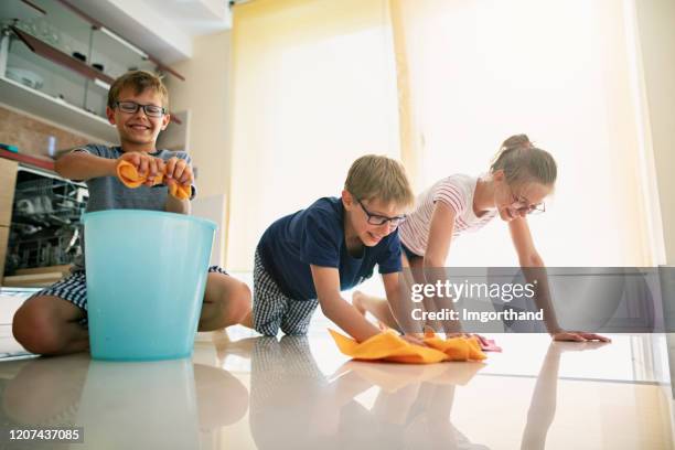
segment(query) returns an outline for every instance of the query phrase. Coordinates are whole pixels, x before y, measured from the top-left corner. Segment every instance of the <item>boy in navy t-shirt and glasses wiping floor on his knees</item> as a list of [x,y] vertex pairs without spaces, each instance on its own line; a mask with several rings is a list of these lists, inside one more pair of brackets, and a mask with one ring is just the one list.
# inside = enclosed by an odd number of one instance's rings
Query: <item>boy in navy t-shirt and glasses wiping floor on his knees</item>
[[414,201],[400,163],[366,156],[352,164],[342,197],[319,199],[271,224],[256,248],[253,328],[266,335],[279,329],[307,334],[320,304],[360,342],[379,333],[340,291],[363,282],[378,266],[387,299],[400,294],[397,227]]

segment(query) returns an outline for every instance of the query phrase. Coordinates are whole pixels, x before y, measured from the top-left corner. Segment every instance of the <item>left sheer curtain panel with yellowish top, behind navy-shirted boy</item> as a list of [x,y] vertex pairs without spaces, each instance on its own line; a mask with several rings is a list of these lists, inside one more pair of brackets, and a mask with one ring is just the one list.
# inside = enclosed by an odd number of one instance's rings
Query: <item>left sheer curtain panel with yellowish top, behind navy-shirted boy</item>
[[352,161],[399,157],[385,0],[256,0],[234,10],[227,267],[250,270],[265,228],[340,195]]

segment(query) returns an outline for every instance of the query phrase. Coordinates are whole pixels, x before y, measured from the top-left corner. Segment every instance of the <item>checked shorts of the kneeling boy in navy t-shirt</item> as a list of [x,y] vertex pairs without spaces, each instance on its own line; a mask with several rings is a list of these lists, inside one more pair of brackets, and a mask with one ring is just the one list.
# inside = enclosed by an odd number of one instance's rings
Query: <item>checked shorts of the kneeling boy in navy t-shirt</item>
[[281,292],[256,250],[253,303],[253,322],[258,333],[276,336],[280,328],[285,334],[304,335],[319,300],[294,300]]

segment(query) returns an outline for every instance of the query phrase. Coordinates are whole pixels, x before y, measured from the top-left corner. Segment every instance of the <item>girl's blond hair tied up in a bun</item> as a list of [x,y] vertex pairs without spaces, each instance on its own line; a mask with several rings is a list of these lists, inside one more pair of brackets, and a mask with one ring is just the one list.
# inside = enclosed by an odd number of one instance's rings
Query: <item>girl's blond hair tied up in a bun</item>
[[537,182],[553,186],[558,176],[556,161],[546,150],[535,147],[526,135],[514,135],[502,142],[490,172],[503,170],[511,185]]

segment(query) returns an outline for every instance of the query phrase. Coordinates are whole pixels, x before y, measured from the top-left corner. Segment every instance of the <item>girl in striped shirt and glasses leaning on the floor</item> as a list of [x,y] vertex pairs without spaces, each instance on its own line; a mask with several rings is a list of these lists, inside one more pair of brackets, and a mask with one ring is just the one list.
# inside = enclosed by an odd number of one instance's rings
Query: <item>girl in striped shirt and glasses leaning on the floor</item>
[[[399,227],[405,268],[439,268],[450,243],[467,232],[476,232],[497,215],[508,224],[521,267],[544,267],[537,253],[527,215],[544,212],[544,199],[553,192],[556,162],[545,150],[533,146],[527,136],[506,139],[486,175],[454,174],[422,192],[416,208]],[[562,330],[555,318],[548,289],[537,296],[543,302],[548,332],[556,341],[603,341],[593,333]],[[356,291],[353,304],[363,314],[369,311],[384,324],[398,328],[386,300]]]

